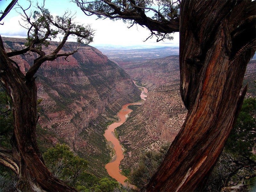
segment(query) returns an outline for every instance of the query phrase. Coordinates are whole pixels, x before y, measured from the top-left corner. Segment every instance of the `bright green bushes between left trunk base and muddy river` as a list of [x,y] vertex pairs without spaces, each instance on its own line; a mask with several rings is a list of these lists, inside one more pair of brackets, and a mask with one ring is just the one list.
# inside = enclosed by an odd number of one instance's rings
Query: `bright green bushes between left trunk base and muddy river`
[[78,191],[113,191],[120,188],[119,183],[107,178],[99,179],[95,175],[86,172],[88,161],[74,156],[65,144],[57,144],[43,154],[46,166],[52,174],[76,187]]

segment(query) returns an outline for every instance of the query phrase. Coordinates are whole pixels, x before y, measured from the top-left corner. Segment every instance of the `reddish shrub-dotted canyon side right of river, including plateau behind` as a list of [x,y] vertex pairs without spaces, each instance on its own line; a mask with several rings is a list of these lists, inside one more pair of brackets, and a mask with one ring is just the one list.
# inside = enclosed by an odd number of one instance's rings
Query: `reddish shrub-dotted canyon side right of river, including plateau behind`
[[[127,73],[145,84],[149,90],[147,100],[129,115],[117,132],[125,148],[123,169],[133,170],[141,154],[158,151],[164,143],[174,140],[185,121],[187,109],[180,97],[179,57],[129,63],[122,66]],[[256,62],[249,62],[244,76],[248,84],[246,97],[255,97]]]

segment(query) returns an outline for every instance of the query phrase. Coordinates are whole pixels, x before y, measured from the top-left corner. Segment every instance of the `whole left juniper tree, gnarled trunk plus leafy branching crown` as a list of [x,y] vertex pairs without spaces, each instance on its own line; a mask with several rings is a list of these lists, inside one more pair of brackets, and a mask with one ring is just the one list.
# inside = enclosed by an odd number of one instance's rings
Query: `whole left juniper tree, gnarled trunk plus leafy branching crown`
[[[27,22],[27,43],[22,50],[5,52],[2,38],[1,49],[1,85],[7,91],[13,104],[14,131],[12,149],[1,146],[0,163],[11,168],[19,177],[18,189],[21,191],[75,191],[64,182],[52,176],[46,168],[42,155],[36,143],[36,77],[35,74],[45,61],[58,57],[67,57],[78,51],[62,50],[68,36],[76,36],[78,43],[92,42],[93,30],[89,25],[77,25],[71,13],[53,17],[43,5],[36,4],[36,11],[29,12],[17,4],[23,20]],[[30,2],[31,6],[31,2]],[[58,46],[46,53],[44,47],[58,34],[63,38]],[[1,37],[1,36],[0,36]],[[19,65],[12,60],[12,56],[20,54],[34,54],[36,59],[28,71],[23,74]]]

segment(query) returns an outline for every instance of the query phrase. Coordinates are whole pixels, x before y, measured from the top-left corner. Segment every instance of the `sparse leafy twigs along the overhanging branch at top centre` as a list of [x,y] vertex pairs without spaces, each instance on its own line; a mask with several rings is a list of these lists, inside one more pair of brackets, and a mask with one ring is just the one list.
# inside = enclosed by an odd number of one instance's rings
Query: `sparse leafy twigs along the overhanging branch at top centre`
[[[143,27],[147,26],[147,20],[157,22],[162,22],[163,20],[179,20],[180,15],[180,3],[178,3],[179,1],[172,0],[158,0],[154,3],[151,0],[112,0],[109,3],[104,0],[84,0],[82,2],[78,0],[72,1],[75,2],[84,11],[85,14],[95,14],[98,18],[108,17],[112,20],[122,19],[123,22],[128,22],[131,24],[131,26],[133,24],[139,24]],[[158,8],[156,8],[156,6],[158,6]],[[139,22],[139,18],[143,18],[145,23],[141,21]],[[168,33],[155,33],[153,30],[151,30],[151,36],[149,37],[154,35],[157,36],[157,41],[163,40],[164,38],[173,39],[173,37]]]

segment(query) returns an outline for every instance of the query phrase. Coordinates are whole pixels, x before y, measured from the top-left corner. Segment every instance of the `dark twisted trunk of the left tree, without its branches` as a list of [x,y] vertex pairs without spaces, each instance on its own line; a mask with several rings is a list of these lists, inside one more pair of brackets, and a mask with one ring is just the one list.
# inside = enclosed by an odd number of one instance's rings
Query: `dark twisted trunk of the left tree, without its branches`
[[[36,142],[36,83],[26,80],[4,51],[1,39],[1,84],[13,100],[12,151],[1,148],[2,164],[19,176],[21,191],[76,191],[54,178],[44,165]],[[4,157],[4,158],[3,158]]]

